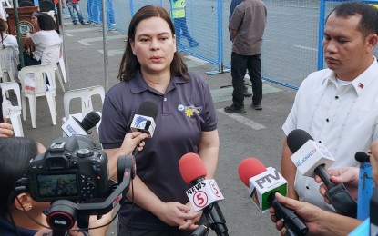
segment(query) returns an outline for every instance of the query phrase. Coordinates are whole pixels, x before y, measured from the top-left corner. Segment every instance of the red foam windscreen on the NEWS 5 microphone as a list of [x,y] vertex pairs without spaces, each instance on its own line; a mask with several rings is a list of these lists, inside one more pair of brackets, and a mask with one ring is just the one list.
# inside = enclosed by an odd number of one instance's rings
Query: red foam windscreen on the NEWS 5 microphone
[[190,183],[207,175],[206,167],[196,153],[186,153],[179,159],[179,172],[184,182]]

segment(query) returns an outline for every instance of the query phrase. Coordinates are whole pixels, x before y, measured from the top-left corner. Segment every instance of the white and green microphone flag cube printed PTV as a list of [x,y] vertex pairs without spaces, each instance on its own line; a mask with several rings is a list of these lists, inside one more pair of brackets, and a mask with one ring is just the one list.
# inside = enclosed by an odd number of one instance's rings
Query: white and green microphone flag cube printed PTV
[[274,192],[280,192],[286,196],[288,182],[276,169],[268,167],[266,172],[261,172],[250,178],[250,198],[257,209],[264,213],[268,211],[271,204],[268,197]]

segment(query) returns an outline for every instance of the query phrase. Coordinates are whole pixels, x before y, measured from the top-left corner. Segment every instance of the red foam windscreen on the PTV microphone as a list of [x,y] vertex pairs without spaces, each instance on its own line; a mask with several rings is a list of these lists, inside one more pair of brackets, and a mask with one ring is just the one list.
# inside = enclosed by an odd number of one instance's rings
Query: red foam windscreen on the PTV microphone
[[266,170],[265,165],[254,157],[244,159],[238,167],[239,178],[247,187],[250,186],[250,178]]

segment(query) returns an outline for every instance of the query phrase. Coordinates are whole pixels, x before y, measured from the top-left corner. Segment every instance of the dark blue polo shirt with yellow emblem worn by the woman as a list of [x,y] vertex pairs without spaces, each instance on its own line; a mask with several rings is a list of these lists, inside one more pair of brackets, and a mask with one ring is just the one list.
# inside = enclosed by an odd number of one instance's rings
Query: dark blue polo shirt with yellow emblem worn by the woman
[[[189,189],[179,172],[179,159],[188,152],[198,152],[201,132],[217,129],[217,117],[209,86],[199,74],[189,73],[189,81],[173,76],[165,94],[148,87],[140,72],[127,82],[120,82],[106,95],[99,138],[104,149],[121,146],[134,114],[141,103],[158,104],[153,138],[138,152],[137,174],[162,202],[189,202]],[[152,213],[131,204],[122,206],[119,222],[129,227],[151,230],[169,229]]]

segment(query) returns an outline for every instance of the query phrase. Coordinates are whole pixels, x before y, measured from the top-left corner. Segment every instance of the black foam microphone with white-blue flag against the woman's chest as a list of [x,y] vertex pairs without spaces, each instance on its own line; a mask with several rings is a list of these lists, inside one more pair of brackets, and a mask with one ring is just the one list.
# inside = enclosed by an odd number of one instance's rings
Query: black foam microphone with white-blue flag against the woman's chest
[[138,113],[134,115],[131,122],[132,132],[148,133],[152,138],[155,132],[155,119],[158,115],[158,105],[151,101],[145,101],[140,104]]

